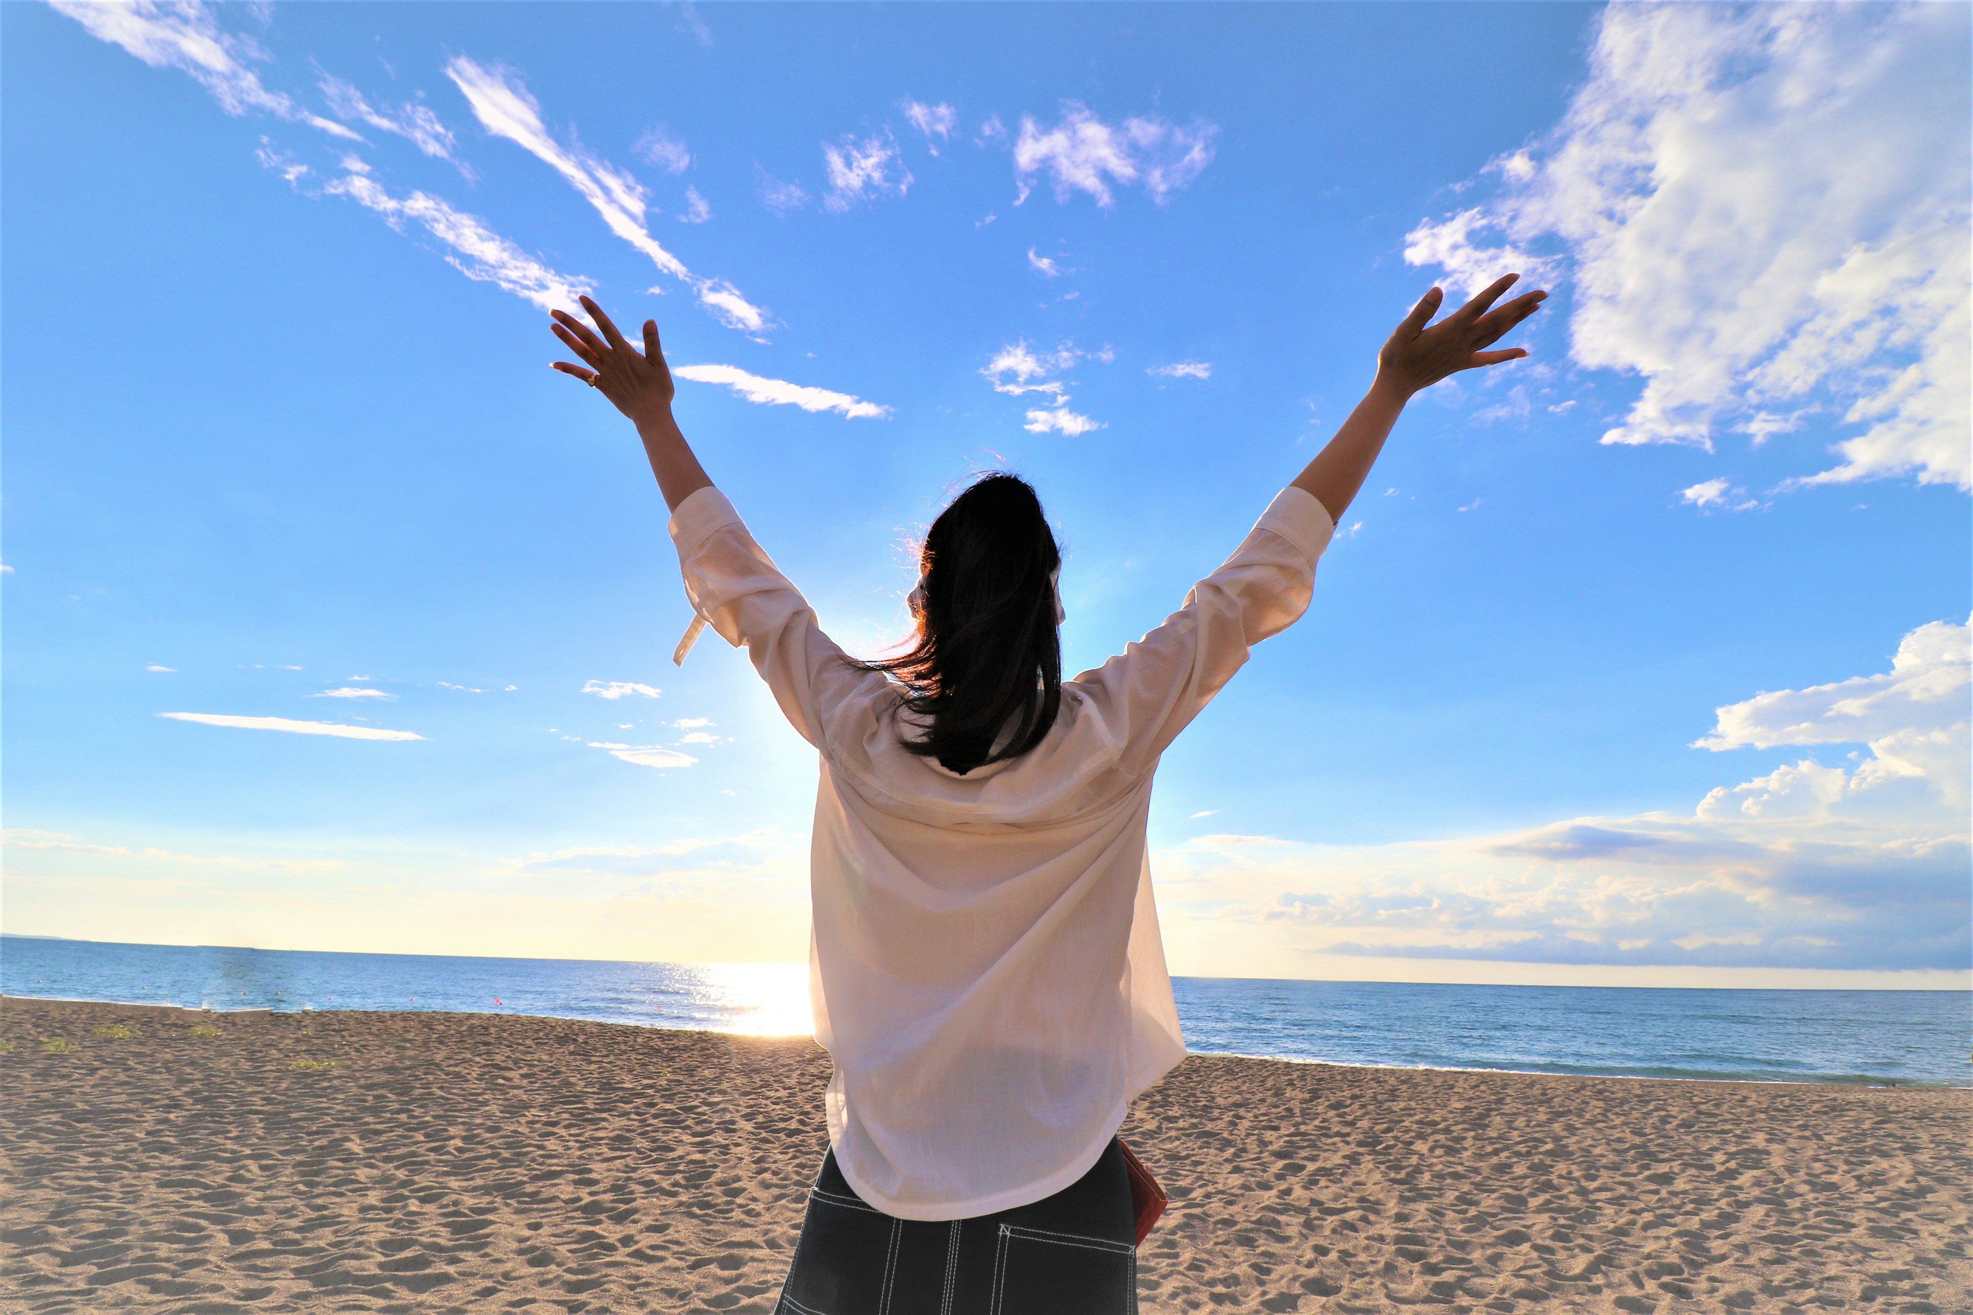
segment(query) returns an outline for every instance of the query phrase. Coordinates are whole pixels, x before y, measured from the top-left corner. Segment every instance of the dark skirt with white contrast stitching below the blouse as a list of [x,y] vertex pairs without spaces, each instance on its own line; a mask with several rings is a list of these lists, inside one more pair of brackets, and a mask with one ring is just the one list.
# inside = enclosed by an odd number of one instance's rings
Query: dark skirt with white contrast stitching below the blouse
[[935,1224],[866,1205],[829,1151],[775,1315],[1136,1315],[1134,1238],[1115,1140],[1046,1201]]

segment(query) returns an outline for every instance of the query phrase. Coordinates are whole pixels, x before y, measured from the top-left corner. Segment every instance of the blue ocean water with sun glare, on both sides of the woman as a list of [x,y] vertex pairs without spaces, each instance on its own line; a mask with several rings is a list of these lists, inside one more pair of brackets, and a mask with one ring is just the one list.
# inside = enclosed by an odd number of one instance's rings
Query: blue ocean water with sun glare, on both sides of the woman
[[[207,1009],[543,1013],[809,1031],[803,964],[324,954],[0,936],[0,994]],[[1409,986],[1176,978],[1186,1043],[1403,1069],[1973,1086],[1965,992]]]

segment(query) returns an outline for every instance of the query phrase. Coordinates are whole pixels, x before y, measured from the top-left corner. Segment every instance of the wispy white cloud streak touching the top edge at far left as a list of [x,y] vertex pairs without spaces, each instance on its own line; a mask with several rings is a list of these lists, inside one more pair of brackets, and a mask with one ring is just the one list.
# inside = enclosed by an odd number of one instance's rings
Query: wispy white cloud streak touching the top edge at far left
[[219,30],[213,12],[191,0],[166,4],[162,0],[49,0],[57,14],[67,14],[89,35],[122,45],[154,69],[180,69],[219,103],[227,114],[260,110],[288,122],[308,124],[331,136],[361,142],[363,136],[343,124],[310,114],[286,93],[268,91],[247,61],[266,59],[251,37]]

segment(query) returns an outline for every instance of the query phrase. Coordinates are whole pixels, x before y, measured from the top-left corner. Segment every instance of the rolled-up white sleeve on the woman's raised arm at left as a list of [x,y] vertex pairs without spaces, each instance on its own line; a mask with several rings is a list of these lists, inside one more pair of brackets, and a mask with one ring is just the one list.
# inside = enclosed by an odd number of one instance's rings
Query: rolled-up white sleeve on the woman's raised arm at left
[[754,542],[718,489],[698,489],[679,503],[671,542],[693,611],[720,639],[746,647],[789,724],[821,749],[831,708],[884,676],[856,668],[823,633],[809,599]]

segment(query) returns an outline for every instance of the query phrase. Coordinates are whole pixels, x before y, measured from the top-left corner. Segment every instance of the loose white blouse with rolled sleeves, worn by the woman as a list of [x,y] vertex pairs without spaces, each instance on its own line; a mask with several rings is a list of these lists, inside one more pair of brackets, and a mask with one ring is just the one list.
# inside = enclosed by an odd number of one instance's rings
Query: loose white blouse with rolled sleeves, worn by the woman
[[1249,649],[1308,607],[1334,528],[1284,489],[1164,625],[1061,684],[1040,745],[959,775],[904,751],[900,686],[844,660],[718,489],[679,505],[693,609],[748,647],[821,751],[809,996],[835,1061],[829,1140],[864,1201],[941,1220],[1050,1197],[1184,1059],[1150,779]]

